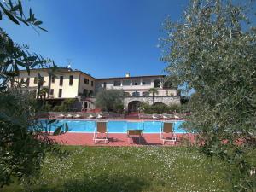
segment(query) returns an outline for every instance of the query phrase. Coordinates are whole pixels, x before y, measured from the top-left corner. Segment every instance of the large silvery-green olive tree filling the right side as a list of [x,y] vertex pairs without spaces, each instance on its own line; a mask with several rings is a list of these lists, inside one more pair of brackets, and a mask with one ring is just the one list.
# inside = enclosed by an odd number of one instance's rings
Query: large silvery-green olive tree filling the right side
[[190,1],[166,20],[162,61],[177,84],[195,89],[187,127],[201,152],[224,163],[234,190],[255,191],[256,29],[249,1]]

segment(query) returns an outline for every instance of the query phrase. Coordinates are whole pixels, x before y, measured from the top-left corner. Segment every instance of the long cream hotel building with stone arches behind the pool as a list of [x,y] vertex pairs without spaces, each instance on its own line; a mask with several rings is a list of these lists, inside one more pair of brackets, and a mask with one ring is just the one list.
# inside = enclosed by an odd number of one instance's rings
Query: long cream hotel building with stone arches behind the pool
[[131,77],[126,73],[125,77],[113,77],[96,79],[90,74],[71,68],[58,68],[54,75],[51,75],[50,69],[32,69],[30,74],[26,70],[21,70],[19,82],[25,82],[24,90],[38,90],[38,73],[44,79],[40,84],[40,89],[47,88],[49,95],[46,94],[46,100],[53,105],[60,104],[67,98],[78,98],[80,107],[85,110],[94,109],[96,93],[104,89],[122,89],[125,92],[125,110],[135,112],[142,102],[153,103],[152,93],[148,90],[155,88],[158,94],[155,95],[155,104],[179,104],[180,96],[177,87],[172,87],[172,82],[165,82],[164,75],[148,75]]

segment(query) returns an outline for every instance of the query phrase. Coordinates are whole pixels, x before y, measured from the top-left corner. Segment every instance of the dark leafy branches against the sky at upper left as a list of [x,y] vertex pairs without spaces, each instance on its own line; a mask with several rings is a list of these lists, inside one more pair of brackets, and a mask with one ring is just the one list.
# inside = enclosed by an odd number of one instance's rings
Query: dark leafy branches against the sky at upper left
[[[6,19],[13,21],[15,24],[22,22],[27,26],[36,26],[34,29],[43,29],[40,26],[42,21],[35,18],[35,15],[32,14],[32,9],[30,9],[29,16],[26,17],[20,1],[6,0],[3,3],[1,2],[0,15],[0,20],[6,17]],[[14,78],[19,75],[20,67],[26,68],[29,74],[31,68],[45,67],[50,62],[49,60],[45,60],[41,55],[30,53],[26,45],[20,46],[13,42],[1,27],[0,47],[0,91],[9,89],[9,84],[17,84]]]

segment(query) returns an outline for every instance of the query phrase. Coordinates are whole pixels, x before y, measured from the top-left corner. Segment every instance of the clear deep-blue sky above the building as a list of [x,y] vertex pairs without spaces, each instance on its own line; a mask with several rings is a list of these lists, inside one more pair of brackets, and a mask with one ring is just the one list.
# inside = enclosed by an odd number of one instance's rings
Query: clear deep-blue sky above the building
[[50,58],[58,66],[71,62],[73,69],[93,77],[161,74],[158,38],[169,16],[178,20],[188,0],[31,0],[44,28],[3,20],[1,27],[19,44]]

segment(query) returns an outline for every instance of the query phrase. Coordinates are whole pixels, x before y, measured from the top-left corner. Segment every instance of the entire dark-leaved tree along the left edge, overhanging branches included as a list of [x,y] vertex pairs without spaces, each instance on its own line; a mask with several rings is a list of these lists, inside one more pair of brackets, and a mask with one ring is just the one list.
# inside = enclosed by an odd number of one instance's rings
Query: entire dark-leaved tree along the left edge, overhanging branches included
[[[1,1],[0,20],[4,18],[36,31],[44,30],[32,9],[25,15],[21,1]],[[16,44],[0,27],[0,189],[16,177],[31,180],[47,152],[61,154],[58,145],[44,135],[44,127],[37,119],[38,103],[30,94],[22,93],[22,82],[16,80],[20,67],[29,74],[30,69],[48,67],[49,62],[31,53],[27,46]]]

